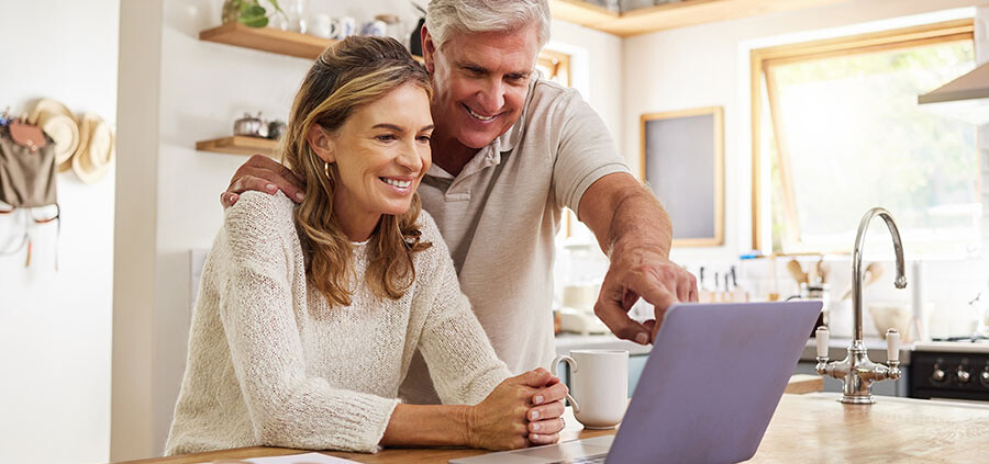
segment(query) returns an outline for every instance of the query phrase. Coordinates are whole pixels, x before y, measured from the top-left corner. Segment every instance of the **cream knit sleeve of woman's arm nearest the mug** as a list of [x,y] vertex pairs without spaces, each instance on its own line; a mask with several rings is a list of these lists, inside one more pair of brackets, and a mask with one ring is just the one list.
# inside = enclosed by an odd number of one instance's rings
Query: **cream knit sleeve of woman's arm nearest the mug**
[[443,404],[476,405],[511,375],[494,354],[491,342],[460,292],[453,260],[435,224],[424,218],[424,236],[433,246],[424,251],[432,261],[431,287],[420,350]]

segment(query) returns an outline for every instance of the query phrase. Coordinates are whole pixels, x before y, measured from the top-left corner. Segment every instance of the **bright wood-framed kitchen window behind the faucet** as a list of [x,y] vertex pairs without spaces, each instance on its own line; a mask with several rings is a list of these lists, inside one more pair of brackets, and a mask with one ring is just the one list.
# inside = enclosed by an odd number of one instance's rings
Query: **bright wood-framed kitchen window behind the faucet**
[[916,97],[975,67],[971,20],[758,49],[753,248],[848,252],[873,206],[914,253],[981,244],[976,127]]

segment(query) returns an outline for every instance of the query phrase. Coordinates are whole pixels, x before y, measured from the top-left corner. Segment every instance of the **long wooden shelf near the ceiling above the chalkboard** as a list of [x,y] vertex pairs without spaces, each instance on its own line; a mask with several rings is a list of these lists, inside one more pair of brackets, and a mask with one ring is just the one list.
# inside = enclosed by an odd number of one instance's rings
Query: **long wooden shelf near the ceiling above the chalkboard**
[[553,18],[620,37],[648,34],[765,13],[800,10],[848,0],[684,0],[615,13],[580,0],[549,0]]

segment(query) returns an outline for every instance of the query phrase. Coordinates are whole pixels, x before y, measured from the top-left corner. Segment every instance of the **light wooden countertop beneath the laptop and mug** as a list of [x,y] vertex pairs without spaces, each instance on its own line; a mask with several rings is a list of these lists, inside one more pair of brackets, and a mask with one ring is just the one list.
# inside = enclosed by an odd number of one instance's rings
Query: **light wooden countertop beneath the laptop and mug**
[[[989,455],[989,406],[959,406],[924,399],[878,397],[871,406],[837,403],[838,394],[786,394],[752,463],[980,462]],[[567,408],[564,441],[614,433],[584,430]],[[132,464],[192,464],[302,453],[242,448],[211,453],[132,461]],[[437,463],[482,454],[465,449],[389,449],[377,454],[326,452],[360,463]],[[981,457],[980,457],[981,456]]]

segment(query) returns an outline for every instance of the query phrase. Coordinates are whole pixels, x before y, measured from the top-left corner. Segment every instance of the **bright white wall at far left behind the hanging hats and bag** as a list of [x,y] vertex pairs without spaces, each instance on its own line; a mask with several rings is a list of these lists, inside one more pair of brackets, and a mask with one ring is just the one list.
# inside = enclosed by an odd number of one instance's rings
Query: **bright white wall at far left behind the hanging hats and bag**
[[[118,0],[0,2],[0,105],[51,97],[116,121]],[[34,226],[34,256],[0,257],[0,462],[109,460],[114,172],[58,176],[62,236]],[[0,217],[0,248],[21,222]]]

